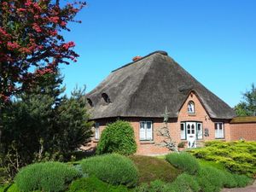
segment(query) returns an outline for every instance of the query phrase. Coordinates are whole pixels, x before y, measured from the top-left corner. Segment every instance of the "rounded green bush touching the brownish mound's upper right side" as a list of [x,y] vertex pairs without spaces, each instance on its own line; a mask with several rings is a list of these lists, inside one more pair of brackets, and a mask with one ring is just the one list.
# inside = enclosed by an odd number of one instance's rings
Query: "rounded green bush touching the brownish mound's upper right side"
[[200,169],[198,161],[188,153],[171,153],[166,155],[166,160],[173,166],[194,175]]

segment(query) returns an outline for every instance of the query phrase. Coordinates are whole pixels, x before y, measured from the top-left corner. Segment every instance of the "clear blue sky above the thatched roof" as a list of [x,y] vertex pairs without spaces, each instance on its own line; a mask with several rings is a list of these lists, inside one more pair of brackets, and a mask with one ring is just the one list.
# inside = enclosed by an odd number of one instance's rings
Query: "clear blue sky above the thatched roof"
[[78,62],[61,66],[69,93],[87,92],[135,55],[166,50],[230,107],[256,84],[254,0],[88,0],[64,35]]

